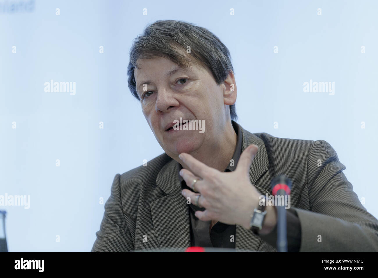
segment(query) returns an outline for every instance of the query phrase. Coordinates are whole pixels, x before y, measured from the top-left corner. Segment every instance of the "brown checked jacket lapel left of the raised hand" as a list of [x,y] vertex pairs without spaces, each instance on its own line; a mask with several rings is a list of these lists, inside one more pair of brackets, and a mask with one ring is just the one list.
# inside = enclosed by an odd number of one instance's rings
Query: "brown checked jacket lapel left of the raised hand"
[[161,248],[190,247],[189,206],[181,195],[177,162],[170,160],[160,170],[156,185],[167,195],[151,203],[153,227]]

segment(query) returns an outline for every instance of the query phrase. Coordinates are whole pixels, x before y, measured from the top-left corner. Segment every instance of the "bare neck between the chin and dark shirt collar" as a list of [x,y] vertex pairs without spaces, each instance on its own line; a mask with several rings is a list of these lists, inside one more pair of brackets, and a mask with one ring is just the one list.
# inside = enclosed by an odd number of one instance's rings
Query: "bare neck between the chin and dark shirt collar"
[[[223,172],[234,155],[237,135],[231,121],[226,124],[225,129],[219,134],[224,135],[220,137],[220,141],[215,143],[211,142],[209,143],[210,146],[203,146],[203,149],[198,149],[198,151],[191,153],[191,155],[209,167]],[[178,160],[183,168],[189,169],[185,163],[180,160],[180,158],[178,158]]]

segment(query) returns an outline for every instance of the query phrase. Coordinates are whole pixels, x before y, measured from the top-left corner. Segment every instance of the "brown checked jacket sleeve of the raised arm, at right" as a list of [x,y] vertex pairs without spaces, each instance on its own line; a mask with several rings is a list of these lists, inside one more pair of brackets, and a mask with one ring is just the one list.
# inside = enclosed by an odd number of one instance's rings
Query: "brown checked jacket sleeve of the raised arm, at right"
[[367,212],[342,172],[335,150],[314,141],[307,160],[310,210],[296,210],[300,252],[377,252],[378,220]]

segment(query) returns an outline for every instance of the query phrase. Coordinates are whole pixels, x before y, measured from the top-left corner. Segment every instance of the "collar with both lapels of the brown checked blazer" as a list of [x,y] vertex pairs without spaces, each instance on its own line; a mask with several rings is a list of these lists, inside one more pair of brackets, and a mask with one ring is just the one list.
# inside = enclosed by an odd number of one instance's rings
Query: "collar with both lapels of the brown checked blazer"
[[[240,126],[240,125],[239,125]],[[240,126],[242,133],[242,152],[251,144],[259,146],[249,168],[249,180],[261,194],[269,192],[256,185],[257,180],[268,170],[269,160],[262,139]],[[190,247],[189,206],[181,195],[180,178],[177,174],[178,163],[170,160],[161,168],[156,177],[156,186],[165,194],[151,203],[153,226],[162,248]],[[268,185],[269,186],[269,185]],[[235,248],[258,250],[261,239],[250,230],[236,225]],[[172,246],[172,244],[174,246]]]

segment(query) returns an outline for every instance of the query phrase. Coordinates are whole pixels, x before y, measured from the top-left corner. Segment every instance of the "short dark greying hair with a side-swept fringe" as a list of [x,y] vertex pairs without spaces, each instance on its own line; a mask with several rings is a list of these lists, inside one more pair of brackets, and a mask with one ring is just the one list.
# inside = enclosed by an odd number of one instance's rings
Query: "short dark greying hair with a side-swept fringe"
[[[181,54],[174,46],[187,49],[191,47],[190,57]],[[146,27],[144,33],[134,40],[130,49],[130,62],[127,67],[129,89],[139,100],[136,92],[134,69],[136,60],[153,57],[166,57],[181,67],[191,62],[208,67],[217,85],[222,84],[229,70],[234,71],[228,48],[209,30],[180,20],[158,20]],[[231,120],[236,120],[235,104],[230,106]]]

